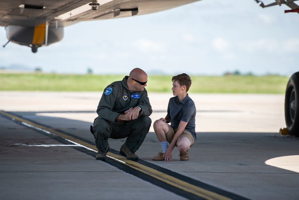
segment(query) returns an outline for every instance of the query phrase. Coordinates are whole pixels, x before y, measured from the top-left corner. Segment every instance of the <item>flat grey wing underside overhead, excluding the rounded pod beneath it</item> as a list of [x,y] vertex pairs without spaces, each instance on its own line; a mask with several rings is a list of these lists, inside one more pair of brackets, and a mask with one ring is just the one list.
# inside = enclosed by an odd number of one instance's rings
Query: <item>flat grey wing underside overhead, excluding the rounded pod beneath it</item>
[[[81,21],[113,19],[167,10],[198,0],[44,0],[0,1],[0,26],[25,25],[64,27]],[[97,9],[90,4],[97,3]],[[94,8],[96,8],[94,6]]]

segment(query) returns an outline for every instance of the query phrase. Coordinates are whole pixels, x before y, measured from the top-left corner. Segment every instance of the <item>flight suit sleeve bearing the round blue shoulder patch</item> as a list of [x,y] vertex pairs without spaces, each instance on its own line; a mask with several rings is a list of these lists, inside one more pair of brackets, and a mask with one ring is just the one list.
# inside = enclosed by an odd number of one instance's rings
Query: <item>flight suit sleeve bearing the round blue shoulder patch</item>
[[107,94],[107,89],[112,88],[107,86],[103,92],[103,95],[100,99],[99,105],[97,106],[97,114],[100,118],[106,119],[112,123],[115,123],[115,118],[120,114],[118,112],[114,112],[113,108],[115,105],[115,100],[118,96],[118,88],[113,87],[112,92]]

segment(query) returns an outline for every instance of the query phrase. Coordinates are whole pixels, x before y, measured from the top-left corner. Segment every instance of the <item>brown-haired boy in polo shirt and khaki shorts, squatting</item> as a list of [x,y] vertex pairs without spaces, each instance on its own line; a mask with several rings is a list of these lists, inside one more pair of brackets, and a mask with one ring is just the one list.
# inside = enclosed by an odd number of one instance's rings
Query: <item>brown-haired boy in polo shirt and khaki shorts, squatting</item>
[[[170,98],[165,118],[156,120],[153,124],[156,136],[162,146],[152,160],[172,161],[172,151],[175,146],[180,151],[180,160],[189,160],[188,149],[196,140],[195,115],[193,100],[187,94],[191,86],[189,75],[182,73],[172,77],[173,95]],[[171,123],[169,125],[168,123]],[[168,146],[168,143],[170,145]]]

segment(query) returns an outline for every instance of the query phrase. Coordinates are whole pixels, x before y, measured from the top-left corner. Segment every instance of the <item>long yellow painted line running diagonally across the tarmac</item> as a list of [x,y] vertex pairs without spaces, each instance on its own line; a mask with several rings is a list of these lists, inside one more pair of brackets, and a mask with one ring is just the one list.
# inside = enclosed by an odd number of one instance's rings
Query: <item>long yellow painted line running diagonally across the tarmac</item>
[[[20,117],[18,117],[16,115],[12,115],[10,113],[7,113],[7,112],[1,111],[1,110],[0,110],[0,114],[5,115],[8,118],[11,118],[13,120],[17,120],[17,121],[29,124],[29,125],[31,125],[33,127],[37,127],[39,129],[46,130],[46,131],[48,131],[48,132],[50,132],[52,134],[55,134],[55,135],[60,136],[62,138],[65,138],[65,139],[68,139],[70,141],[76,142],[76,143],[78,143],[80,145],[83,145],[83,146],[85,146],[87,148],[90,148],[90,149],[92,149],[94,151],[97,151],[96,146],[91,145],[91,144],[89,144],[87,142],[81,141],[81,140],[79,140],[77,138],[74,138],[72,136],[68,136],[68,135],[66,135],[64,133],[61,133],[59,131],[53,130],[51,128],[48,128],[48,127],[45,127],[45,126],[42,126],[42,125],[39,125],[39,124],[35,124],[32,121],[20,118]],[[118,161],[118,162],[120,162],[120,163],[122,163],[122,164],[125,164],[125,165],[127,165],[129,167],[132,167],[133,169],[136,169],[136,170],[138,170],[140,172],[143,172],[143,173],[145,173],[145,174],[147,174],[149,176],[152,176],[152,177],[154,177],[154,178],[156,178],[156,179],[158,179],[160,181],[163,181],[163,182],[165,182],[167,184],[170,184],[170,185],[172,185],[174,187],[177,187],[177,188],[179,188],[181,190],[184,190],[186,192],[192,193],[192,194],[194,194],[196,196],[199,196],[199,197],[202,197],[202,198],[205,198],[205,199],[208,199],[208,200],[218,200],[218,199],[221,199],[221,200],[232,200],[232,199],[230,199],[230,198],[228,198],[226,196],[222,196],[222,195],[219,195],[217,193],[211,192],[209,190],[205,190],[205,189],[203,189],[201,187],[198,187],[198,186],[195,186],[193,184],[187,183],[187,182],[182,181],[182,180],[180,180],[178,178],[174,178],[174,177],[172,177],[170,175],[164,174],[163,172],[159,172],[158,170],[155,170],[155,169],[152,169],[150,167],[144,166],[144,165],[142,165],[140,163],[137,163],[137,162],[135,162],[133,160],[127,160],[127,159],[125,159],[124,157],[122,157],[120,155],[108,152],[107,156],[110,157],[110,158],[112,158],[112,159],[114,159],[114,160],[116,160],[116,161]]]

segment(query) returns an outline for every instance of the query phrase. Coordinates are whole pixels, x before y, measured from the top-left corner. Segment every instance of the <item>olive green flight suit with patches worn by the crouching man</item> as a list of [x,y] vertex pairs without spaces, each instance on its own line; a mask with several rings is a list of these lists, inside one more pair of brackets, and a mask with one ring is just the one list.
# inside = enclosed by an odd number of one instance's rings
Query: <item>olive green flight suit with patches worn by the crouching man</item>
[[[130,91],[125,76],[122,81],[116,81],[108,85],[100,99],[97,114],[94,119],[92,130],[97,149],[106,152],[108,149],[108,138],[126,138],[124,143],[133,152],[136,152],[149,132],[152,120],[152,106],[149,103],[147,91]],[[119,114],[136,106],[141,107],[139,116],[131,121],[115,121]]]

